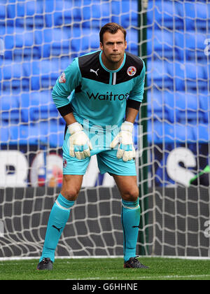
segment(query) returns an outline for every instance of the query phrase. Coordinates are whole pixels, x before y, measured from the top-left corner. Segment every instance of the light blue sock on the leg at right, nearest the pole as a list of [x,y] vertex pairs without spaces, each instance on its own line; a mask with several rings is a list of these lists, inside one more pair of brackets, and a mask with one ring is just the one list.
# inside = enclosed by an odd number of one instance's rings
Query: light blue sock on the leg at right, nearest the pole
[[121,221],[124,234],[124,261],[136,256],[137,238],[139,234],[139,222],[141,209],[139,198],[135,202],[122,200]]

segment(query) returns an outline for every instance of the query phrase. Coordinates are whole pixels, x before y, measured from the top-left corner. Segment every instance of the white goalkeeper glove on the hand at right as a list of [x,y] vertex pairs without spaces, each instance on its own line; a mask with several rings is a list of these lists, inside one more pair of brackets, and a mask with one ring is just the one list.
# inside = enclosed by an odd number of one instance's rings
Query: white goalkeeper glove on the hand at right
[[119,144],[117,158],[123,158],[123,161],[132,160],[132,158],[135,157],[135,148],[132,138],[133,126],[132,123],[125,121],[121,125],[120,132],[110,144],[111,148],[115,148],[116,145]]

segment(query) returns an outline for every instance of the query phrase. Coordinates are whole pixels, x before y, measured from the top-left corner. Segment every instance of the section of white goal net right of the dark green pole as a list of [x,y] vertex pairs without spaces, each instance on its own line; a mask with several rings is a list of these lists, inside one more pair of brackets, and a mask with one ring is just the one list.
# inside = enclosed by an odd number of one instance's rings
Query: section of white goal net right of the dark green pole
[[152,255],[209,257],[209,8],[202,0],[148,1]]

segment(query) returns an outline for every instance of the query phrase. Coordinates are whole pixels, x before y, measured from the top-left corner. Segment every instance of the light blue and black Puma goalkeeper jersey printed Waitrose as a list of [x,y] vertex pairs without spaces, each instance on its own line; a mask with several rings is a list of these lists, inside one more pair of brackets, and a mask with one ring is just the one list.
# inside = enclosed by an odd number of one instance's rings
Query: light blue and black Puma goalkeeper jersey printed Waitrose
[[102,51],[92,52],[73,59],[57,79],[52,99],[61,114],[73,110],[82,125],[85,120],[101,127],[119,126],[126,106],[135,108],[135,103],[142,102],[144,77],[140,57],[125,52],[120,68],[110,71],[102,62]]

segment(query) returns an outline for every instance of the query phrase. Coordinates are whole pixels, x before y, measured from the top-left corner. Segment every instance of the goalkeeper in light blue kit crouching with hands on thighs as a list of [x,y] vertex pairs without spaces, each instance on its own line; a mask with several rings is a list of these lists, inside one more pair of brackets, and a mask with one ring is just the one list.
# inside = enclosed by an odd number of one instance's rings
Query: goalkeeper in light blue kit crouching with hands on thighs
[[66,121],[62,190],[50,212],[37,269],[52,269],[55,248],[80,191],[92,155],[113,176],[122,196],[124,267],[147,268],[136,256],[139,188],[132,141],[144,94],[145,66],[129,52],[126,31],[110,22],[99,32],[100,50],[76,57],[52,90]]

